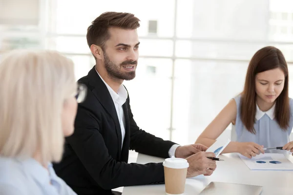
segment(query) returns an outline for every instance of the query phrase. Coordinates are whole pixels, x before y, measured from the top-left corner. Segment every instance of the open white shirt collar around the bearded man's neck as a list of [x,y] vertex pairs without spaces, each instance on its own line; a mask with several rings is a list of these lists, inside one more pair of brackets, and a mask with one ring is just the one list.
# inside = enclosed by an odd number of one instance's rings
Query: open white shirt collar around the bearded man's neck
[[126,99],[128,97],[128,93],[126,88],[123,85],[120,85],[119,89],[118,89],[118,93],[116,93],[106,82],[105,80],[101,77],[101,75],[98,73],[97,69],[95,68],[97,74],[99,75],[99,77],[103,80],[103,82],[105,83],[111,98],[113,99],[114,103],[118,103],[120,106],[122,106],[125,102]]

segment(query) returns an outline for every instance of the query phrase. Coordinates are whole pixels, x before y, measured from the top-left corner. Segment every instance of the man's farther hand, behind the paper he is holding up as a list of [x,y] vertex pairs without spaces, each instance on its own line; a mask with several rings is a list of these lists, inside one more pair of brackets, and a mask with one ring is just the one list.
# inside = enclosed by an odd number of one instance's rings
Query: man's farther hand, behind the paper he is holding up
[[202,144],[191,144],[186,146],[179,146],[176,148],[175,157],[177,158],[187,158],[188,156],[194,155],[198,152],[204,152],[208,147]]

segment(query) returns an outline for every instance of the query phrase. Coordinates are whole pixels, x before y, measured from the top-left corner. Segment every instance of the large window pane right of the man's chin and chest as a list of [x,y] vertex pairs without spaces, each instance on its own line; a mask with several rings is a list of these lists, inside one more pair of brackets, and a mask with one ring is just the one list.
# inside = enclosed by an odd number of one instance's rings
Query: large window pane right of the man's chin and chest
[[146,132],[167,140],[167,129],[170,126],[171,71],[171,59],[140,58],[136,77],[124,82],[137,125]]

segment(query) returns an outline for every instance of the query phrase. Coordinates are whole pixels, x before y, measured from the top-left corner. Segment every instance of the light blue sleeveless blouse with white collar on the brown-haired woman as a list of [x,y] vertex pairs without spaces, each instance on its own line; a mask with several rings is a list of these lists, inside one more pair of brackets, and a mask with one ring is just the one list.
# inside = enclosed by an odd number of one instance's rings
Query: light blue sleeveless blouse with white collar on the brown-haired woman
[[259,145],[268,147],[279,147],[287,144],[290,139],[290,134],[293,127],[293,99],[290,98],[290,121],[289,127],[286,131],[283,131],[277,121],[274,119],[274,106],[267,112],[262,112],[257,106],[254,130],[256,134],[247,131],[246,127],[241,121],[240,116],[240,102],[241,96],[234,98],[237,105],[237,116],[235,123],[235,130],[237,135],[237,141],[239,142],[255,142]]

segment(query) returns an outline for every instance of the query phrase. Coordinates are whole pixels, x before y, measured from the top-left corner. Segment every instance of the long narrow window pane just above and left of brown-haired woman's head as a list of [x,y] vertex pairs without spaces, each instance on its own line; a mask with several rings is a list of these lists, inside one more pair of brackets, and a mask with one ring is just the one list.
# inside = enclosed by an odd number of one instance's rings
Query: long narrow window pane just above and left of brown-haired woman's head
[[188,41],[176,42],[176,57],[250,60],[253,54],[264,47],[262,44],[236,41]]

